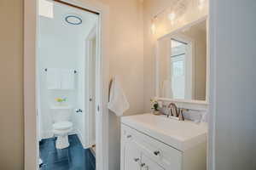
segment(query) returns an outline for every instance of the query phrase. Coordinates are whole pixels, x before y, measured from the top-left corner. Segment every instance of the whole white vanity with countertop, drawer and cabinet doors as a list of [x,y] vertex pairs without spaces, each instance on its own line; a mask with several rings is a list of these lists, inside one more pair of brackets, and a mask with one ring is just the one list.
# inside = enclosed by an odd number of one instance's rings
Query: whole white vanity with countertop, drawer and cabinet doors
[[207,125],[143,114],[121,118],[121,170],[206,170]]

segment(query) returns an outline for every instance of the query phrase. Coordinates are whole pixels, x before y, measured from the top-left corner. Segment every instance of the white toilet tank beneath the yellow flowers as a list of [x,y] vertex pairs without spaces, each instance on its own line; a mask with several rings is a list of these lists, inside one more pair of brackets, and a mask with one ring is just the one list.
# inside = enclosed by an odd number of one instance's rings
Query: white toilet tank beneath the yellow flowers
[[71,106],[51,106],[53,122],[71,121]]

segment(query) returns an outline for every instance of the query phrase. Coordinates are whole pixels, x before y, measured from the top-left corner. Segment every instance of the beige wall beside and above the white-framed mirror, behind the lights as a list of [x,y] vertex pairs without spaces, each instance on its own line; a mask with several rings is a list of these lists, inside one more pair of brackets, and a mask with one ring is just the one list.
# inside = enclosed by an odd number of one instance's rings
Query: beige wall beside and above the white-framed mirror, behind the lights
[[[198,0],[187,0],[186,8],[179,20],[174,20],[173,24],[168,20],[173,4],[176,0],[145,0],[143,5],[143,50],[144,50],[144,111],[150,110],[149,99],[155,96],[155,42],[158,37],[162,37],[175,29],[188,24],[191,21],[200,19],[208,12],[207,3],[204,8],[198,8]],[[151,31],[152,18],[155,14],[166,9],[154,21],[156,31]]]

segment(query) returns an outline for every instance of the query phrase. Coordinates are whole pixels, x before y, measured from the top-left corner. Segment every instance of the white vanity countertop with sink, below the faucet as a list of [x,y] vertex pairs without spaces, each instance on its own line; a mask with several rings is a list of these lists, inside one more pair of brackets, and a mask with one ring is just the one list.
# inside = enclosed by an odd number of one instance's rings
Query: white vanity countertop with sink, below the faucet
[[177,121],[153,114],[123,116],[121,122],[177,150],[188,150],[207,141],[207,123]]

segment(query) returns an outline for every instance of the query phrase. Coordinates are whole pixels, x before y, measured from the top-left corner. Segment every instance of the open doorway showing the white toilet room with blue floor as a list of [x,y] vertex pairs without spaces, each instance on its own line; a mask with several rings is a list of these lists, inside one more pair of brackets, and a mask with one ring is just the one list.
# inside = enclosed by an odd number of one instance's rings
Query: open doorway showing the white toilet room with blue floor
[[96,169],[99,14],[38,0],[39,169]]

